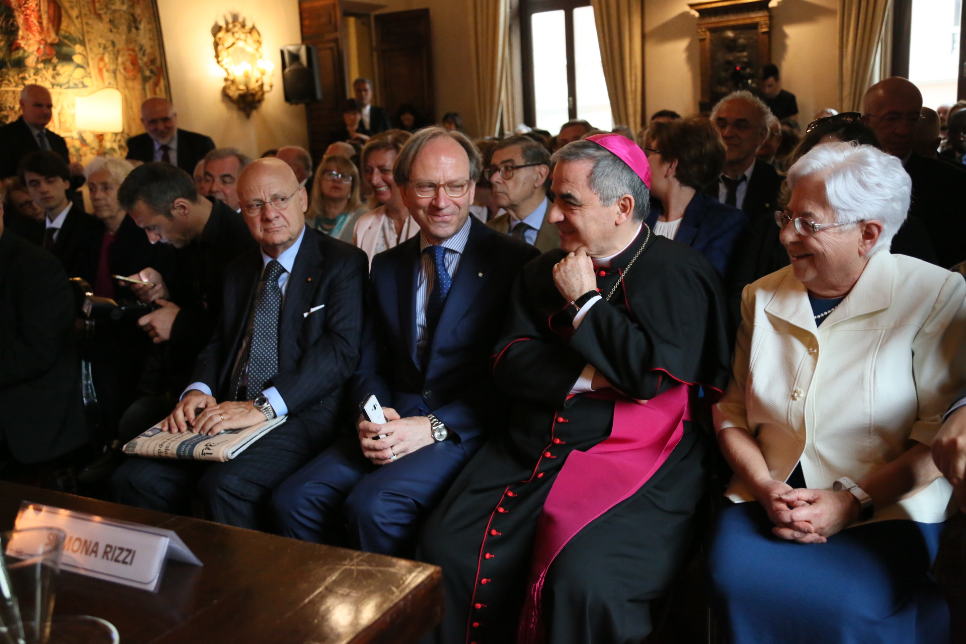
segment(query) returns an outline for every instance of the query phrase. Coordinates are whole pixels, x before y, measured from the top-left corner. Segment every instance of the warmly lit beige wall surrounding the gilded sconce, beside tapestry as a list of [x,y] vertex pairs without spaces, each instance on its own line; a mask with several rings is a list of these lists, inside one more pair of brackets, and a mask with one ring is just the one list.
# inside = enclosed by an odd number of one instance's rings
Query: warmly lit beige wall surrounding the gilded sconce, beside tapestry
[[[281,45],[301,42],[297,0],[158,0],[157,9],[179,126],[254,156],[283,145],[307,147],[305,108],[285,102],[279,55]],[[224,71],[214,62],[212,25],[229,11],[255,23],[262,54],[275,65],[274,89],[250,119],[222,96]]]

